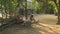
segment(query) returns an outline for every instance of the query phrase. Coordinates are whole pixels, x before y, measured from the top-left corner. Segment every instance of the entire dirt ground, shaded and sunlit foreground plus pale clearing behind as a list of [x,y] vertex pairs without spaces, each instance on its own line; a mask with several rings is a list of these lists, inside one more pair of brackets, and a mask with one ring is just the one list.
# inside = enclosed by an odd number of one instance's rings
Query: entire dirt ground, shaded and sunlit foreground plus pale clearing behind
[[9,26],[0,32],[0,34],[60,34],[60,25],[56,25],[57,16],[40,15],[36,16],[39,23],[25,27],[20,24]]

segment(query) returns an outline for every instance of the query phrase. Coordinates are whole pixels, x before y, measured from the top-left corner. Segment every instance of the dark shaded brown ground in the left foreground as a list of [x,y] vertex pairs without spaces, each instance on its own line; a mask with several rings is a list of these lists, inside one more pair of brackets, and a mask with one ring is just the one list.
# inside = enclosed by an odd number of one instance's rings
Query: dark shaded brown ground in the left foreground
[[4,31],[1,31],[0,34],[41,34],[41,33],[33,27],[25,27],[19,24],[15,24],[4,29]]

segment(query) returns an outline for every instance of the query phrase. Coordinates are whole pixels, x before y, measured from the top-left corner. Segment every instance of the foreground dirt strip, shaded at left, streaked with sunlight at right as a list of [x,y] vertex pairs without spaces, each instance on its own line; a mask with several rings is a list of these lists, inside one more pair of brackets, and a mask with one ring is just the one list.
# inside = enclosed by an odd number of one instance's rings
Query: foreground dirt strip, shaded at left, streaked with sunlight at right
[[59,25],[48,24],[32,24],[32,27],[24,27],[21,25],[13,25],[8,27],[0,34],[60,34]]

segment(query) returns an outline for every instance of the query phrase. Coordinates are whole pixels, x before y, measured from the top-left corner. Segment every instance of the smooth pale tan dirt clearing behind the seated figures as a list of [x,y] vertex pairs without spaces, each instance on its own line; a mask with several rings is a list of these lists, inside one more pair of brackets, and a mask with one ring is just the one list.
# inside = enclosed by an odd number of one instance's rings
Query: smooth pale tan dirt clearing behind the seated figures
[[57,16],[55,15],[38,15],[36,16],[36,19],[38,19],[40,21],[40,23],[44,23],[44,24],[51,24],[51,25],[55,25],[57,23]]

